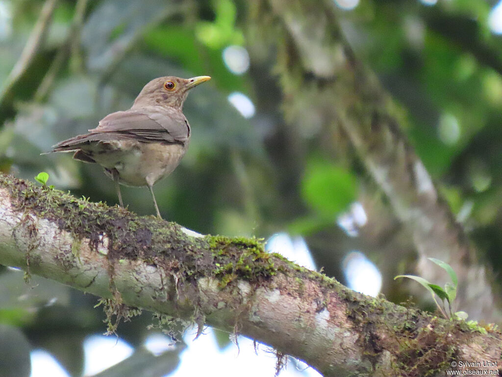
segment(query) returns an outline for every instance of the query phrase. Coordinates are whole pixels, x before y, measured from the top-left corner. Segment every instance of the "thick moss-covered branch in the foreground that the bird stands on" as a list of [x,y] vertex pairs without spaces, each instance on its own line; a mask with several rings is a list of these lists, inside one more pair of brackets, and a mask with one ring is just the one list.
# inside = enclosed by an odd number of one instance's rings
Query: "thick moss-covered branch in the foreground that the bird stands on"
[[238,332],[325,375],[430,375],[454,360],[496,365],[502,354],[498,332],[355,293],[265,252],[261,240],[189,236],[8,175],[0,263],[100,296],[118,316],[141,308]]

